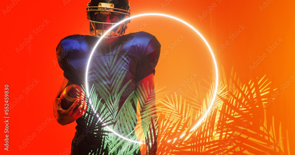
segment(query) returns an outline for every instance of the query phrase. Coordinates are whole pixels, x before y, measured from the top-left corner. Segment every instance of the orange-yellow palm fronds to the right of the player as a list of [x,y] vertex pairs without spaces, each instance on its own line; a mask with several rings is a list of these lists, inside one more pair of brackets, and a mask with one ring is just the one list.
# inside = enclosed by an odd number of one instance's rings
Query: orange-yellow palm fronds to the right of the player
[[[224,72],[223,74],[226,75]],[[194,116],[189,112],[192,106],[181,107],[185,105],[180,104],[182,99],[180,101],[168,99],[163,102],[167,105],[167,109],[162,109],[161,113],[159,136],[162,138],[158,154],[287,154],[290,152],[288,135],[285,136],[286,147],[283,147],[283,142],[279,140],[284,137],[281,126],[279,132],[275,132],[274,121],[269,127],[266,123],[263,104],[270,98],[269,92],[274,90],[270,88],[268,79],[264,76],[260,80],[256,78],[242,85],[237,82],[235,75],[231,71],[229,82],[226,76],[222,76],[222,83],[235,86],[219,85],[218,98],[214,101],[212,111],[192,133],[185,130],[188,129],[186,125],[194,124],[201,114],[204,114],[208,104],[211,103],[214,88],[211,86],[209,89],[201,109],[197,109],[200,112],[192,120],[193,123],[189,119],[184,119],[186,118],[184,116]],[[192,92],[197,93],[195,90]],[[192,92],[190,93],[193,94]],[[195,100],[190,98],[188,102]],[[186,100],[183,103],[185,102]],[[187,110],[184,112],[182,109]],[[179,138],[179,135],[183,134],[185,136]],[[167,142],[168,139],[171,141]]]

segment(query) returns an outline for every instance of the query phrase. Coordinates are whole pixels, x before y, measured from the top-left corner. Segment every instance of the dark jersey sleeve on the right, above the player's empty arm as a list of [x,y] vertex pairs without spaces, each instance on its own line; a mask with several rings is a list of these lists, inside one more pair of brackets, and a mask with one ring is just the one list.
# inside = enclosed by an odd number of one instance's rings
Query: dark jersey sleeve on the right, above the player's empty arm
[[155,67],[160,57],[160,43],[154,36],[145,47],[144,54],[137,63],[135,81],[140,81],[150,74],[155,76]]

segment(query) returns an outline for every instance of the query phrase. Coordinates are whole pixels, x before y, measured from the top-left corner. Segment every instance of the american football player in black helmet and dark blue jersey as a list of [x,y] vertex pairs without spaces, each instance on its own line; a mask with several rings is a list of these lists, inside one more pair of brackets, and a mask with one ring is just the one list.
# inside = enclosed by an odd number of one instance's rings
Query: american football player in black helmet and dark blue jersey
[[[124,34],[127,24],[130,23],[129,20],[122,22],[107,33],[91,58],[87,81],[90,91],[92,94],[96,94],[99,101],[89,99],[93,105],[87,101],[87,103],[83,102],[81,106],[74,108],[81,103],[76,100],[69,109],[61,108],[61,100],[59,99],[61,92],[71,84],[85,88],[86,66],[96,42],[112,26],[130,17],[130,8],[128,0],[91,0],[86,8],[91,35],[71,35],[61,39],[58,43],[56,55],[65,79],[53,102],[53,113],[61,125],[67,125],[73,121],[77,123],[71,154],[102,154],[102,152],[112,154],[108,148],[109,144],[105,143],[104,136],[106,134],[102,130],[104,125],[97,115],[102,118],[108,114],[108,117],[103,119],[104,121],[109,118],[119,120],[120,117],[123,117],[123,112],[120,110],[124,111],[123,105],[127,103],[127,100],[130,100],[133,108],[131,111],[127,111],[135,112],[136,115],[138,99],[143,128],[153,128],[151,124],[158,127],[154,104],[155,96],[153,95],[153,76],[160,56],[161,45],[155,36],[147,32]],[[150,92],[150,95],[142,92]],[[130,97],[132,95],[137,97],[136,100],[134,97]],[[97,102],[100,106],[96,105]],[[116,105],[116,103],[118,106],[113,108],[105,106]],[[104,110],[108,110],[108,112],[104,112]],[[147,114],[147,111],[150,114]],[[152,123],[149,124],[148,121],[143,121],[144,119],[152,121]],[[136,125],[136,122],[133,125]],[[118,133],[127,131],[122,123],[118,126],[120,128],[117,130]],[[147,150],[148,154],[156,153],[157,134],[148,138],[149,140],[145,139],[147,143],[150,142],[148,143],[150,146],[147,147],[150,148]],[[145,137],[147,136],[148,134],[145,133]],[[129,149],[132,151],[132,147]],[[136,150],[134,154],[140,154],[138,149],[134,150]]]

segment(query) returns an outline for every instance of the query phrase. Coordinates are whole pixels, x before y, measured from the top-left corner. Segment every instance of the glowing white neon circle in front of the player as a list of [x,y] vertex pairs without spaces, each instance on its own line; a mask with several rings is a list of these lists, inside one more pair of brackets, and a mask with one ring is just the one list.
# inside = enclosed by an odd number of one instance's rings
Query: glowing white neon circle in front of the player
[[[96,47],[98,46],[99,42],[104,38],[104,36],[106,36],[106,34],[109,33],[109,31],[111,31],[114,27],[118,26],[119,24],[121,24],[121,23],[123,23],[123,22],[125,22],[125,21],[127,21],[127,20],[130,20],[130,19],[132,19],[132,18],[136,18],[136,17],[140,17],[140,16],[150,16],[150,15],[170,17],[170,18],[172,18],[172,19],[176,19],[176,20],[178,20],[178,21],[181,21],[182,23],[184,23],[184,24],[186,24],[187,26],[189,26],[189,27],[190,27],[191,29],[193,29],[197,34],[199,34],[199,36],[200,36],[200,37],[203,39],[203,41],[206,43],[207,47],[209,48],[209,50],[210,50],[210,52],[211,52],[212,58],[213,58],[213,60],[214,60],[214,65],[215,65],[215,70],[216,70],[216,85],[215,85],[215,90],[214,90],[213,99],[212,99],[212,102],[211,102],[209,108],[207,109],[206,114],[204,114],[203,117],[199,120],[199,122],[198,122],[198,123],[197,123],[197,124],[196,124],[196,125],[190,130],[190,131],[189,131],[189,132],[191,132],[191,131],[193,131],[197,126],[199,126],[199,125],[202,123],[202,121],[203,121],[203,120],[205,119],[205,117],[208,115],[209,111],[211,110],[211,108],[212,108],[212,106],[213,106],[213,104],[214,104],[215,97],[216,97],[216,95],[217,95],[217,89],[218,89],[218,69],[217,69],[217,63],[216,63],[216,60],[215,60],[215,57],[214,57],[213,51],[212,51],[211,47],[209,46],[208,42],[206,41],[206,39],[205,39],[205,38],[199,33],[199,31],[196,30],[193,26],[191,26],[190,24],[188,24],[188,23],[186,23],[185,21],[183,21],[183,20],[181,20],[181,19],[178,19],[178,18],[176,18],[176,17],[170,16],[170,15],[166,15],[166,14],[158,14],[158,13],[139,14],[139,15],[131,16],[131,17],[127,18],[127,19],[124,19],[124,20],[120,21],[119,23],[117,23],[117,24],[115,24],[114,26],[112,26],[108,31],[106,31],[106,32],[104,33],[104,35],[102,35],[101,38],[99,39],[99,41],[96,43],[96,45],[94,46],[94,48],[93,48],[93,50],[92,50],[92,52],[91,52],[91,54],[90,54],[90,56],[89,56],[89,60],[88,60],[88,63],[87,63],[87,68],[86,68],[86,76],[85,76],[85,77],[86,77],[85,85],[86,85],[86,93],[87,93],[86,95],[87,95],[87,97],[89,97],[89,90],[88,90],[89,88],[88,88],[88,81],[87,81],[89,64],[90,64],[90,61],[91,61],[91,57],[92,57],[92,55],[93,55],[93,53],[94,53]],[[89,102],[90,102],[90,104],[91,104],[91,100],[90,100],[90,99],[89,99]],[[94,109],[94,107],[93,107],[92,104],[91,104],[91,108],[92,108],[93,111],[95,111],[95,109]],[[99,115],[96,114],[96,116],[97,116],[97,117],[99,118],[99,120],[102,122],[102,120],[101,120],[101,118],[99,117]],[[103,124],[106,125],[105,123],[103,123]],[[112,131],[114,134],[116,134],[117,136],[119,136],[119,137],[122,138],[122,139],[125,139],[125,140],[127,140],[127,141],[131,141],[131,142],[134,142],[134,143],[137,143],[137,144],[143,144],[142,142],[134,141],[134,140],[131,140],[131,139],[128,139],[128,138],[126,138],[126,137],[123,137],[123,136],[119,135],[117,132],[113,131],[113,130],[110,129],[108,126],[106,126],[106,128],[108,128],[110,131]],[[183,136],[184,136],[184,134],[181,135],[180,138],[183,137]],[[174,140],[175,140],[175,139],[174,139]],[[169,141],[171,141],[171,140],[168,140],[168,142],[169,142]]]

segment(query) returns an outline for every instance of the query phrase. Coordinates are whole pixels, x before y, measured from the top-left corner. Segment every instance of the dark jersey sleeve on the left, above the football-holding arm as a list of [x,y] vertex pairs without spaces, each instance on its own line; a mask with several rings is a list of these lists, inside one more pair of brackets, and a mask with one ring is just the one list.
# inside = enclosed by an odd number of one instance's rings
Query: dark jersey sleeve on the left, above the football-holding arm
[[68,63],[68,54],[70,51],[64,51],[61,42],[56,47],[56,56],[60,68],[64,71],[63,76],[74,84],[80,84],[78,74],[71,64]]

